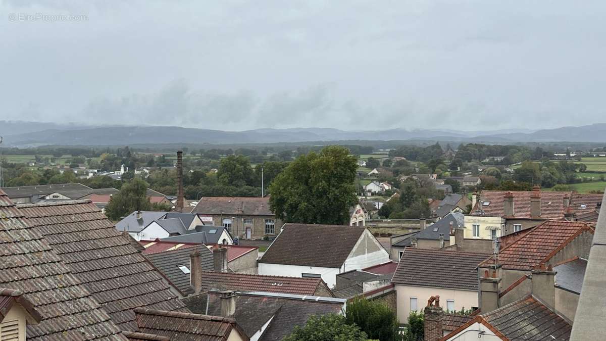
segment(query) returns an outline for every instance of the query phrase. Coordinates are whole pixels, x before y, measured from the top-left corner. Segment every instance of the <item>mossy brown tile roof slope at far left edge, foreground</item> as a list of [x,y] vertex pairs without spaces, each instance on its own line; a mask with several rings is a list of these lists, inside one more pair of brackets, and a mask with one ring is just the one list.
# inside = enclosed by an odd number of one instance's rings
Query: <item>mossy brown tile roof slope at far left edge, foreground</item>
[[126,340],[78,277],[0,190],[0,287],[19,289],[42,321],[28,340]]

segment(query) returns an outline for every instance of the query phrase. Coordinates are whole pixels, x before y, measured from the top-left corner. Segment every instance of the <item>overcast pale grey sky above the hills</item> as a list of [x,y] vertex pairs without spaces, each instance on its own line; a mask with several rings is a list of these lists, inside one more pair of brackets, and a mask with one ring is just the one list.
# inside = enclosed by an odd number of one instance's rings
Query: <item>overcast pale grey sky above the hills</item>
[[604,0],[13,0],[0,12],[0,120],[221,130],[606,121]]

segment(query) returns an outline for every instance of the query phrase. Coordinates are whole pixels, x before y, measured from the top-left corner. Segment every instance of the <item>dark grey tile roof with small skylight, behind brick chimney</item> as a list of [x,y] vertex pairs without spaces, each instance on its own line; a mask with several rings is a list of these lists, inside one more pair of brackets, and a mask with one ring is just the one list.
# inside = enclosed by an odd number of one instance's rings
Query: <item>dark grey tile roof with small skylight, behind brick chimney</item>
[[179,266],[185,266],[187,269],[190,269],[190,254],[195,251],[200,252],[202,269],[212,270],[213,252],[204,245],[193,245],[188,248],[145,254],[145,258],[150,260],[173,286],[179,289],[184,295],[188,295],[193,294],[193,289],[190,288],[190,274],[185,274],[179,269]]

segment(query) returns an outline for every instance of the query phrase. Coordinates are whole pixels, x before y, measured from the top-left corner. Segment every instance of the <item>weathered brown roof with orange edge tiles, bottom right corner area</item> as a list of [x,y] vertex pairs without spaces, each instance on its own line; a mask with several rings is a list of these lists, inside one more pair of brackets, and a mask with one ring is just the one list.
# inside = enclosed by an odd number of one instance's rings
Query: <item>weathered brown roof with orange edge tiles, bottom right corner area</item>
[[568,340],[572,328],[533,297],[482,314],[482,318],[510,340]]

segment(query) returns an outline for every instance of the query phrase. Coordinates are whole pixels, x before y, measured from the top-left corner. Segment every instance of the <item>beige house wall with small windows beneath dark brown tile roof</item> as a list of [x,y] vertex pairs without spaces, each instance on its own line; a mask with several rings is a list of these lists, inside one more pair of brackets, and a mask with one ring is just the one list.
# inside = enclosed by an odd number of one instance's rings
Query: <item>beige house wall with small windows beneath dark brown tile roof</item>
[[444,309],[447,307],[447,300],[454,300],[454,309],[457,311],[462,308],[471,309],[472,307],[478,307],[478,291],[396,284],[396,295],[396,310],[398,311],[398,321],[400,323],[408,323],[411,297],[417,299],[417,311],[423,311],[423,308],[427,306],[427,300],[435,295],[440,295],[440,305]]

